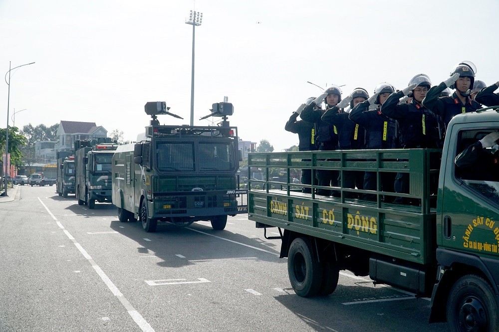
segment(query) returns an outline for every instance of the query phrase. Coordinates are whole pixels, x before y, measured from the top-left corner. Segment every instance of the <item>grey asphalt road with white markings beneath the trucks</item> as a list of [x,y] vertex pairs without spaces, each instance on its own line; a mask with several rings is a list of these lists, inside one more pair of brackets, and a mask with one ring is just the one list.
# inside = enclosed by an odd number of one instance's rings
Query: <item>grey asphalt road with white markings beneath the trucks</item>
[[54,191],[0,203],[0,331],[447,331],[429,299],[345,271],[329,297],[298,297],[247,215],[146,233]]

